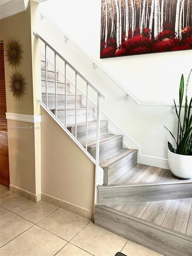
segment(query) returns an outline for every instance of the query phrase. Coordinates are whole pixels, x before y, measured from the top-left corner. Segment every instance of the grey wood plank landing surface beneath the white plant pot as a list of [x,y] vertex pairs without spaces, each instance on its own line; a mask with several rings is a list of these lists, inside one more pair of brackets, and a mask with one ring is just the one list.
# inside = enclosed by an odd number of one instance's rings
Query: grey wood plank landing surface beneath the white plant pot
[[181,179],[173,176],[170,170],[148,166],[137,163],[134,167],[124,173],[117,181],[110,183],[115,184],[130,184],[130,183],[147,183],[147,182],[192,182],[190,179]]

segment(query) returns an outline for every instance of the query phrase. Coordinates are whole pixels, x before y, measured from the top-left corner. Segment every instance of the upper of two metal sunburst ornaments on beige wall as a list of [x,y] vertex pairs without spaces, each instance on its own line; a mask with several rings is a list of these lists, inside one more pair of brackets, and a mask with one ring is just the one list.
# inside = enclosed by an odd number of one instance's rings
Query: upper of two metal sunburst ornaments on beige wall
[[5,56],[7,57],[6,61],[9,63],[9,66],[12,66],[16,68],[16,66],[19,66],[21,64],[22,53],[24,52],[21,50],[22,44],[19,44],[19,40],[16,40],[11,38],[11,40],[8,40],[8,44],[6,44],[5,49]]

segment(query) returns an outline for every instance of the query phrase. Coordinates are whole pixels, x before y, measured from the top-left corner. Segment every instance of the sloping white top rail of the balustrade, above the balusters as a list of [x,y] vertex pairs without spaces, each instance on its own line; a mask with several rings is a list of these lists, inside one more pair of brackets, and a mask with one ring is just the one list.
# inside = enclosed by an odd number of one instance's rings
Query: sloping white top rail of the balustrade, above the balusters
[[67,59],[65,59],[61,53],[59,53],[57,50],[54,49],[54,47],[52,47],[52,45],[50,45],[49,43],[47,43],[47,41],[41,36],[39,35],[37,32],[33,32],[34,35],[36,35],[39,39],[41,39],[41,41],[43,41],[54,53],[56,53],[68,66],[70,66],[71,69],[73,69],[87,84],[89,84],[93,90],[95,90],[103,99],[107,99],[107,96],[102,93],[94,84],[91,83],[91,81],[88,80],[88,78],[86,78],[85,76],[83,76],[81,74],[81,72],[79,70],[77,70]]

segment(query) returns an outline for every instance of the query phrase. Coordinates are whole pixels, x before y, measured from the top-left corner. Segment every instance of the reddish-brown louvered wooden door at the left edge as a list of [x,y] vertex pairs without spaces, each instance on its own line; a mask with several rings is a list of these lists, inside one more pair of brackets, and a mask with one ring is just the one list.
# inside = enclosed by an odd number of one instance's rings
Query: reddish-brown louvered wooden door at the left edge
[[0,44],[0,183],[9,186],[9,153],[6,119],[6,93],[3,43]]

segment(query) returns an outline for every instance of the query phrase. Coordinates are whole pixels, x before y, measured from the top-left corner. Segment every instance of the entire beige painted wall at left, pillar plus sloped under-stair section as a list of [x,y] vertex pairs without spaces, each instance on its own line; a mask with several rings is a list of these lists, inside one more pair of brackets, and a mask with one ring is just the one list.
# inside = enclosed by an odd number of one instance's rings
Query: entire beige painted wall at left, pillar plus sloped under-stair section
[[[33,31],[38,27],[38,4],[30,1],[26,11],[0,21],[0,40],[11,37],[22,44],[23,59],[19,67],[26,76],[23,99],[10,93],[10,74],[14,70],[5,62],[7,112],[38,115],[41,97],[40,48]],[[60,126],[41,110],[42,123],[8,120],[9,127],[39,126],[40,129],[9,129],[10,183],[32,194],[52,197],[94,211],[95,164],[64,133]],[[42,186],[42,187],[41,187]]]

